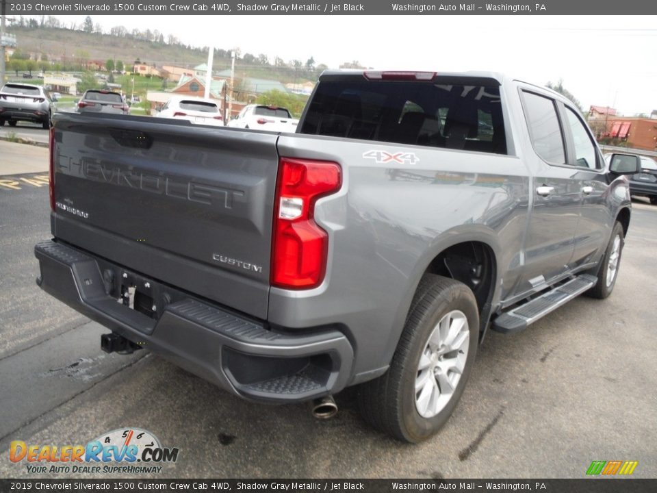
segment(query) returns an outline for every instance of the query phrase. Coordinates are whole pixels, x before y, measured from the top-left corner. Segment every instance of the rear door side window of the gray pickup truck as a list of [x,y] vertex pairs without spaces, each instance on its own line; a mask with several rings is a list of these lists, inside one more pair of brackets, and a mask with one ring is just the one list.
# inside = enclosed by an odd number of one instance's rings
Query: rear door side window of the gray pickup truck
[[554,101],[532,92],[523,92],[523,99],[534,151],[549,163],[564,164],[563,137]]

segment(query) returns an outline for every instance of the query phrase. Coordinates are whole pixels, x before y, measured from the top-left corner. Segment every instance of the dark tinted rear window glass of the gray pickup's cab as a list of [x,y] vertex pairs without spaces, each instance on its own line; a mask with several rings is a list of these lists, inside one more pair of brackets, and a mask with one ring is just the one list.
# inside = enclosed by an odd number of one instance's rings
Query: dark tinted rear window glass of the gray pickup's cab
[[302,134],[506,154],[498,86],[321,82]]

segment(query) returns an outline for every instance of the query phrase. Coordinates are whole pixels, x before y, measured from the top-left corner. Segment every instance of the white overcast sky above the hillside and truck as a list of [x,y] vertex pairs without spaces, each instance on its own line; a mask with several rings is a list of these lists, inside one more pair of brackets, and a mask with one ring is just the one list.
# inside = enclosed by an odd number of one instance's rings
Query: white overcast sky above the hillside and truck
[[[84,16],[59,16],[66,25]],[[504,72],[535,84],[563,79],[584,108],[657,110],[657,16],[92,16],[158,29],[185,44],[239,47],[337,68],[358,60],[395,70]],[[144,53],[142,60],[148,60]]]

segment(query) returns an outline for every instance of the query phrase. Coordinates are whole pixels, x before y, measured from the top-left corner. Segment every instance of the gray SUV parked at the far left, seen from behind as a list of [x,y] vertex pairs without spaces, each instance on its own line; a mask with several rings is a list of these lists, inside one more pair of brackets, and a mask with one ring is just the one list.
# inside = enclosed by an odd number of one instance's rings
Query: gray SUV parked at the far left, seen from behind
[[0,89],[0,127],[5,122],[15,127],[19,121],[29,121],[50,128],[53,101],[57,98],[42,86],[9,82]]

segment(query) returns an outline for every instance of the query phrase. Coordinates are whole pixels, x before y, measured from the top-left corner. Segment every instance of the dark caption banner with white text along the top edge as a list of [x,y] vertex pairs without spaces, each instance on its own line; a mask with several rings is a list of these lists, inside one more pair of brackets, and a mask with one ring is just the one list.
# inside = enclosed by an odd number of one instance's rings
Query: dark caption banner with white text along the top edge
[[645,0],[7,0],[7,14],[203,14],[203,15],[649,15],[657,2]]

